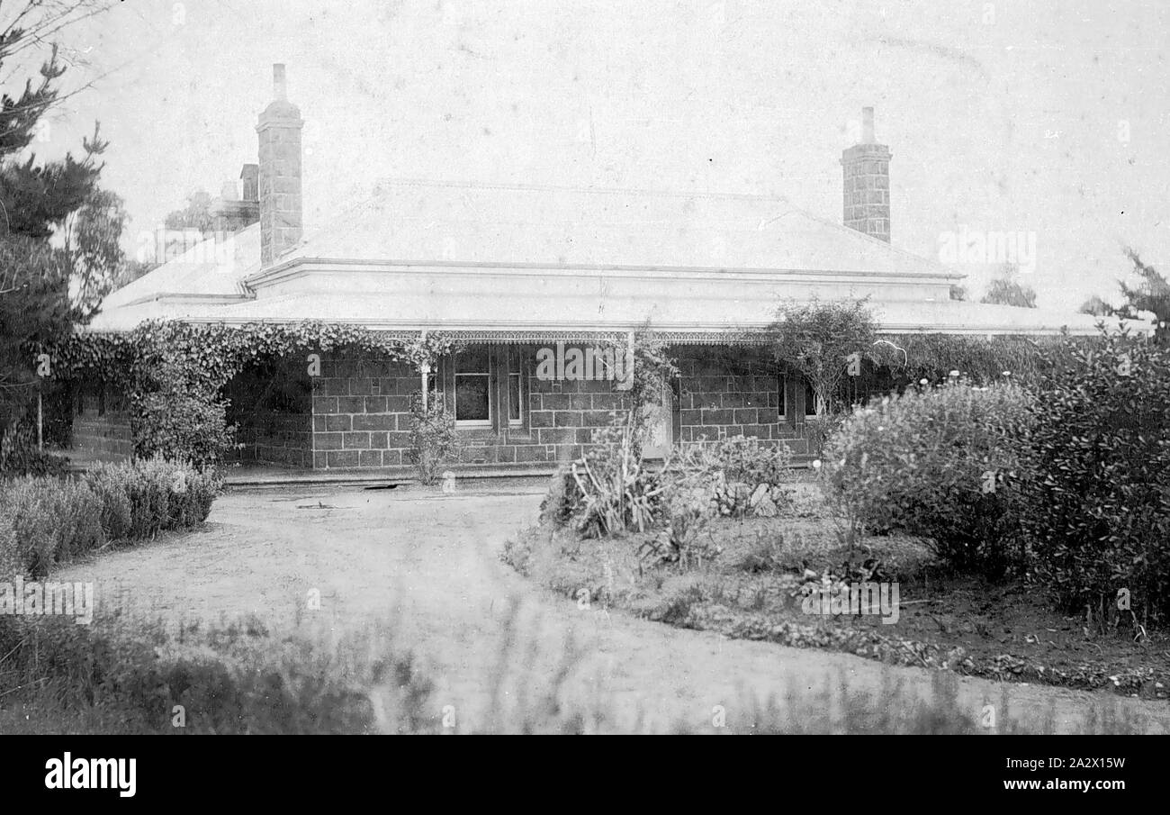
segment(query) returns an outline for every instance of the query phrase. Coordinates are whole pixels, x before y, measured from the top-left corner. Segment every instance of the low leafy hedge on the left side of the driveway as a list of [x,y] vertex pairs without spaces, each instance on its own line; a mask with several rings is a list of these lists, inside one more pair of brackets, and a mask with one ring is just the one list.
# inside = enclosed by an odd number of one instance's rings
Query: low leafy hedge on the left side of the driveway
[[163,459],[98,465],[82,480],[0,482],[0,575],[44,577],[112,541],[144,540],[206,520],[221,482]]

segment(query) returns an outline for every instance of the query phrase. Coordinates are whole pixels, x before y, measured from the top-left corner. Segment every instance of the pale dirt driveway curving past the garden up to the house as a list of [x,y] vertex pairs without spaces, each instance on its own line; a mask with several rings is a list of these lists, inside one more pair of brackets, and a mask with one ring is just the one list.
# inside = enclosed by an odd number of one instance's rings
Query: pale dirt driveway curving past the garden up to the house
[[[723,706],[730,730],[751,698],[817,691],[848,678],[876,691],[890,677],[928,697],[930,673],[883,669],[845,653],[790,649],[580,609],[532,587],[496,555],[535,521],[539,494],[443,495],[405,489],[288,487],[233,492],[199,532],[109,553],[62,577],[94,581],[106,602],[132,598],[168,621],[255,614],[274,628],[315,618],[338,633],[386,625],[414,650],[462,726],[557,684],[563,708],[611,712],[621,730],[677,722],[711,728]],[[119,591],[119,588],[122,589]],[[319,596],[319,610],[310,609]],[[121,598],[115,601],[113,598]],[[563,679],[570,643],[580,651]],[[1072,730],[1101,694],[1012,685],[1014,713],[1052,708]],[[964,678],[958,700],[979,718],[1002,686]],[[495,705],[493,700],[495,699]],[[1170,732],[1170,706],[1117,699],[1151,732]],[[736,725],[739,725],[737,727]]]

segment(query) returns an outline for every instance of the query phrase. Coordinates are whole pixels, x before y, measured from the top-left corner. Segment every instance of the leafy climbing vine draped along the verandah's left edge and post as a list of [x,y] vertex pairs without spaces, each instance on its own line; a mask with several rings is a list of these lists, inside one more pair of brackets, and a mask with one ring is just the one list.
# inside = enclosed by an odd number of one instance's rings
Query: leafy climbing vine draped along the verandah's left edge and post
[[252,363],[304,354],[309,365],[310,354],[345,350],[421,370],[457,344],[439,334],[404,336],[314,321],[150,321],[124,334],[76,334],[50,349],[50,356],[55,376],[101,382],[125,395],[138,456],[161,453],[212,466],[234,445],[222,388]]

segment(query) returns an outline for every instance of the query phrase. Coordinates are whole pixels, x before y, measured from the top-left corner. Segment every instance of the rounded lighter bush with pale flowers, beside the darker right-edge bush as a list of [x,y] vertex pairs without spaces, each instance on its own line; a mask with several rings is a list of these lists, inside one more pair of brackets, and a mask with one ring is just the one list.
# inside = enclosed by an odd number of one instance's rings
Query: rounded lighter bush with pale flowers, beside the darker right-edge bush
[[958,569],[1002,575],[1020,557],[1014,509],[1028,396],[954,382],[858,408],[828,439],[821,488],[851,541],[903,530]]

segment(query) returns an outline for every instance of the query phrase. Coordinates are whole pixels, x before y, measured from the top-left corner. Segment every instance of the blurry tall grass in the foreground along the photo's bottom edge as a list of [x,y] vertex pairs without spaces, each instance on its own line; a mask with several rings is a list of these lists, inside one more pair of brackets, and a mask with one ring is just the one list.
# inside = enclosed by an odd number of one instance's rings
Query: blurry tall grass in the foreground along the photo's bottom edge
[[[566,645],[549,693],[529,696],[528,643],[510,626],[508,646],[484,683],[482,721],[452,721],[434,684],[385,629],[330,641],[324,630],[284,635],[253,619],[181,626],[167,633],[139,621],[94,626],[0,618],[0,732],[12,733],[617,733],[605,700],[567,706],[559,689],[579,656]],[[505,679],[505,677],[508,677]],[[709,726],[640,720],[634,732],[669,733],[1010,733],[1051,732],[1052,712],[1020,718],[1007,691],[994,727],[961,710],[955,678],[937,673],[920,698],[890,674],[876,693],[845,673],[819,689],[787,682],[783,694],[741,694],[713,708]],[[514,704],[504,704],[510,698]],[[178,726],[181,706],[183,725]],[[625,730],[629,730],[627,726]],[[1082,732],[1133,733],[1116,710],[1095,706]]]

